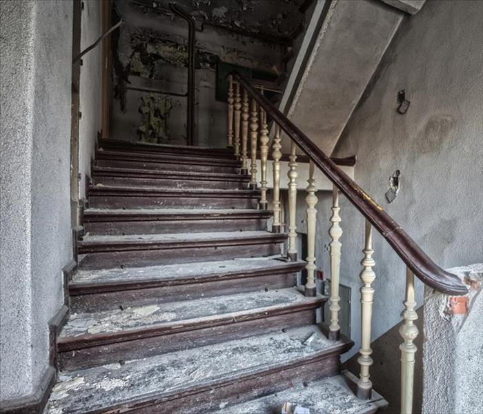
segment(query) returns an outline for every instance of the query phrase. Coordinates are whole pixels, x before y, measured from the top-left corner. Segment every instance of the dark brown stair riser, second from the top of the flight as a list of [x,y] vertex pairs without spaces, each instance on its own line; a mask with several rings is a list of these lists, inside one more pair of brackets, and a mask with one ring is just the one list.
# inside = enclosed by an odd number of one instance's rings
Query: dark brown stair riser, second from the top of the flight
[[110,168],[136,168],[144,170],[186,171],[186,172],[223,172],[238,174],[237,166],[214,166],[211,164],[182,164],[166,161],[134,161],[132,159],[98,159],[96,165]]

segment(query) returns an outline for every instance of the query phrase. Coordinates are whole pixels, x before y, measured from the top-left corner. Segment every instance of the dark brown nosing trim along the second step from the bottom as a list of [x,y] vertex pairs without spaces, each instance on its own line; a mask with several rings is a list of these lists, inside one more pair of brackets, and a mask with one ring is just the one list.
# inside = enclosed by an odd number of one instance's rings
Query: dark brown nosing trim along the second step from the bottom
[[179,391],[179,390],[168,391],[167,393],[159,393],[159,394],[156,393],[156,394],[151,394],[147,397],[138,397],[130,401],[120,402],[110,407],[103,408],[102,410],[91,410],[91,411],[88,411],[88,413],[86,414],[101,414],[101,413],[104,413],[106,409],[115,411],[115,410],[121,410],[126,408],[130,408],[130,409],[148,408],[149,406],[152,406],[154,404],[160,404],[163,402],[169,402],[169,401],[178,400],[178,399],[182,400],[186,397],[190,397],[190,395],[210,392],[212,390],[215,390],[215,388],[221,388],[224,386],[236,387],[237,384],[256,379],[257,377],[276,375],[277,373],[282,373],[283,371],[286,371],[287,369],[290,369],[290,368],[296,368],[298,366],[308,366],[311,364],[321,363],[325,359],[337,357],[337,355],[347,352],[349,349],[351,349],[352,345],[353,345],[352,342],[350,343],[341,342],[341,343],[338,343],[336,346],[333,346],[333,348],[328,348],[324,350],[324,352],[319,353],[318,355],[314,355],[312,357],[296,359],[289,363],[280,362],[279,364],[275,366],[270,366],[270,367],[259,366],[257,368],[254,368],[250,372],[246,372],[242,374],[235,373],[235,375],[232,375],[232,376],[222,377],[217,380],[210,381],[208,384],[205,384],[204,386],[199,386],[199,384],[197,384],[197,386],[187,387],[184,391]]

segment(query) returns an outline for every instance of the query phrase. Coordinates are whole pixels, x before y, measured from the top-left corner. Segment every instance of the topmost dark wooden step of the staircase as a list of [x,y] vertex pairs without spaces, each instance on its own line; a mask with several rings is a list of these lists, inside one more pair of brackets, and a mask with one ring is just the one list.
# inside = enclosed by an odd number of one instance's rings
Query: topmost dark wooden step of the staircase
[[146,142],[121,141],[117,139],[99,139],[99,148],[105,150],[128,150],[138,152],[162,152],[176,155],[193,155],[195,157],[226,157],[234,159],[231,148],[211,148],[199,146],[178,146],[169,144],[150,144]]

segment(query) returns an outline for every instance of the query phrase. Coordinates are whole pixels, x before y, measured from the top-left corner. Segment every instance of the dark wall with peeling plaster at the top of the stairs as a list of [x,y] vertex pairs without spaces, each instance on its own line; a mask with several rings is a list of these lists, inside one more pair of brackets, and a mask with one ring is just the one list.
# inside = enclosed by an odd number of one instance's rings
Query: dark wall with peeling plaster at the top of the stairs
[[[118,3],[118,8],[126,23],[119,31],[117,64],[122,67],[128,86],[186,92],[186,22],[152,12],[141,14],[130,8],[128,2]],[[199,25],[197,28],[201,29]],[[274,62],[282,56],[282,47],[211,27],[197,30],[196,47],[195,142],[200,146],[223,147],[226,146],[226,102],[215,99],[217,59],[273,73]],[[115,88],[119,85],[119,73],[118,66]],[[119,97],[119,90],[115,91],[111,113],[113,138],[137,141],[137,128],[144,124],[139,106],[141,97],[147,95],[146,92],[126,90],[123,100]],[[186,98],[168,99],[172,102],[167,121],[169,142],[186,144]]]

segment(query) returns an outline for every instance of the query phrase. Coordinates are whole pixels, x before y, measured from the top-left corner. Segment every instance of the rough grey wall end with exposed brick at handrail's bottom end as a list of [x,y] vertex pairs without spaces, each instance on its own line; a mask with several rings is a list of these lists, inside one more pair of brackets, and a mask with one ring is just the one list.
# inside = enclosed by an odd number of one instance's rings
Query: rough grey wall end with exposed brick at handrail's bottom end
[[483,263],[449,269],[469,289],[466,306],[424,289],[425,414],[483,413]]

